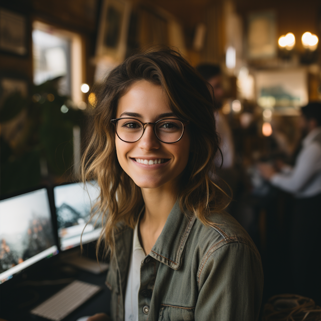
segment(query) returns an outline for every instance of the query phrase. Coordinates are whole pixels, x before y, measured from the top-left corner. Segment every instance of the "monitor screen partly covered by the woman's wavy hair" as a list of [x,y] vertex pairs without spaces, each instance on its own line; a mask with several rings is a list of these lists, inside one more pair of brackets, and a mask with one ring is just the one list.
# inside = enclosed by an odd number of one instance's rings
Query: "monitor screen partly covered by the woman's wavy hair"
[[54,187],[58,238],[62,251],[78,246],[80,242],[85,244],[98,239],[100,221],[96,224],[95,220],[89,222],[91,208],[98,197],[99,188],[95,182],[87,183],[86,188],[82,183]]

